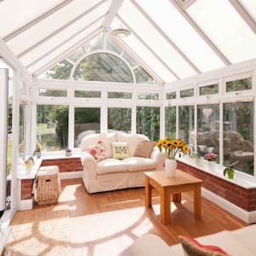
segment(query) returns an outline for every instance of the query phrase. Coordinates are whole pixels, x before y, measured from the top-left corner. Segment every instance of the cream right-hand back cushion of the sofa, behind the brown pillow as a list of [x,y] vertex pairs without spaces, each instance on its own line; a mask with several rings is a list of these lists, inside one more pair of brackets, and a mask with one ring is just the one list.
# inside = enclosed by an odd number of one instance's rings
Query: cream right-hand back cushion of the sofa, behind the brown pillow
[[129,144],[130,156],[134,156],[139,142],[149,141],[148,137],[143,134],[127,134],[125,132],[118,132],[116,136],[117,142],[125,142]]

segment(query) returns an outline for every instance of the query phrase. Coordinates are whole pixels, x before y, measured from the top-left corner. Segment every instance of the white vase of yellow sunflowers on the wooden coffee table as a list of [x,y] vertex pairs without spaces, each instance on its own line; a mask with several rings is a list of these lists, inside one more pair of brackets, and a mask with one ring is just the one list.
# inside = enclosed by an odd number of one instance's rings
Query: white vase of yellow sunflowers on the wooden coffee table
[[178,152],[183,152],[183,154],[187,154],[189,151],[189,147],[185,144],[183,139],[174,139],[170,140],[169,137],[165,137],[164,139],[160,139],[157,143],[157,147],[160,152],[162,148],[165,149],[166,152],[166,161],[165,161],[165,170],[168,177],[175,177],[176,169],[177,169],[177,161],[175,157]]

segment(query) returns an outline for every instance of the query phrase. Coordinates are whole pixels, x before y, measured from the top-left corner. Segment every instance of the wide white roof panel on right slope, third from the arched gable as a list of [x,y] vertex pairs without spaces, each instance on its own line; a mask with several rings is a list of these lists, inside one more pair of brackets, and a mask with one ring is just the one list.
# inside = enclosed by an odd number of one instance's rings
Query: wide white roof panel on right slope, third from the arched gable
[[202,72],[224,67],[209,45],[195,32],[189,22],[183,18],[169,0],[160,3],[154,0],[137,0],[137,3],[148,13],[161,30],[172,39],[195,67]]

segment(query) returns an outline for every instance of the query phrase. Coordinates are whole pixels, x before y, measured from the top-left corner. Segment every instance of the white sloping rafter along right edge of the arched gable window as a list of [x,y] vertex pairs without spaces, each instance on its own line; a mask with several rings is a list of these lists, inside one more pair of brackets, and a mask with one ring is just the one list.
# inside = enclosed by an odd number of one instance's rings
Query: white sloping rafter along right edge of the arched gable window
[[[108,32],[109,32],[109,35],[111,36],[111,33],[112,33],[112,29],[109,28],[108,29]],[[122,48],[122,49],[125,49],[125,51],[131,55],[132,58],[134,58],[137,63],[143,67],[159,84],[164,84],[164,80],[160,78],[160,76],[157,74],[157,73],[154,73],[154,71],[148,67],[148,64],[145,63],[132,49],[130,46],[128,46],[127,44],[125,44],[125,42],[121,39],[121,38],[118,38],[116,36],[111,36],[111,38],[113,38],[113,40],[119,44],[119,46]],[[139,66],[138,66],[139,67]]]

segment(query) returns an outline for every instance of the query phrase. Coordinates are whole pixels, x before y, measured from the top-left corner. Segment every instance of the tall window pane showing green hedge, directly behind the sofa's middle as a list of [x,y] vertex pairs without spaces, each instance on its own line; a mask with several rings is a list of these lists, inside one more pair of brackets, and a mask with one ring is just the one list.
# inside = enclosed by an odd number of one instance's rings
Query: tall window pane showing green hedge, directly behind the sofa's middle
[[131,133],[131,108],[108,108],[108,132]]

